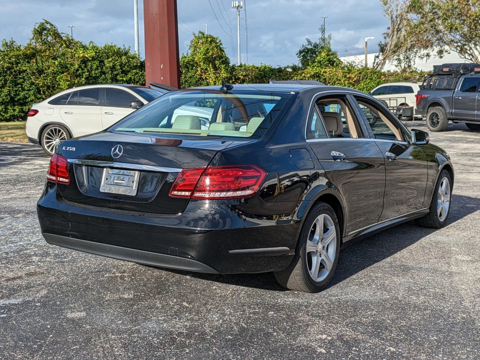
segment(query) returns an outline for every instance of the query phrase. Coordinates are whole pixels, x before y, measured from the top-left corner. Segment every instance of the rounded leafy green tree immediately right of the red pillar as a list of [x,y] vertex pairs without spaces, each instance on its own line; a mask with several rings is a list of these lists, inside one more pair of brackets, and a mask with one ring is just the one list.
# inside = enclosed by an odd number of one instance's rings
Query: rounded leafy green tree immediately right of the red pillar
[[230,59],[221,40],[199,31],[180,57],[181,87],[218,85],[231,76]]

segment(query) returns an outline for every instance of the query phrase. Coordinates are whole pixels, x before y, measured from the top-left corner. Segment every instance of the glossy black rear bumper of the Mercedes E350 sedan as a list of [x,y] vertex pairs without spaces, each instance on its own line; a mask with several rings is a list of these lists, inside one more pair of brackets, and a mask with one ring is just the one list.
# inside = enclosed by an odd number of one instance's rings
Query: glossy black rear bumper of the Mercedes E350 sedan
[[[67,202],[47,183],[37,214],[48,243],[87,253],[206,273],[286,268],[294,256],[300,220],[277,214],[288,214],[288,209],[279,209],[285,203],[251,204],[256,209],[263,206],[265,216],[242,211],[244,203],[236,207],[198,200],[179,215],[146,216]],[[289,206],[294,213],[298,203]],[[269,207],[275,208],[276,216],[269,215]]]

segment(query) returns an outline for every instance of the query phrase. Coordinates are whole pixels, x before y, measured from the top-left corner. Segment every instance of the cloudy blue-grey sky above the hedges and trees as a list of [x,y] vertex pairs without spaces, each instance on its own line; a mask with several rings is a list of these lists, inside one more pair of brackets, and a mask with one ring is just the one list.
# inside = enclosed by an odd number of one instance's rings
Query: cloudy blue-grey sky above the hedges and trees
[[[139,2],[140,52],[144,53],[143,1]],[[369,52],[388,26],[380,0],[245,0],[248,20],[249,63],[288,65],[297,63],[295,53],[306,37],[317,39],[318,28],[327,16],[326,30],[340,56],[363,53],[363,41],[370,40]],[[204,29],[219,36],[227,55],[236,61],[236,35],[230,39],[229,23],[236,26],[231,0],[178,0],[180,54],[186,52],[192,32]],[[242,12],[243,17],[243,12]],[[115,43],[134,47],[133,0],[1,0],[0,39],[13,38],[24,44],[35,23],[42,19],[60,31],[84,42]],[[217,20],[218,19],[218,20]],[[242,33],[244,29],[242,29]],[[235,33],[236,34],[236,33]],[[245,52],[245,36],[242,35]],[[133,51],[133,50],[132,50]]]

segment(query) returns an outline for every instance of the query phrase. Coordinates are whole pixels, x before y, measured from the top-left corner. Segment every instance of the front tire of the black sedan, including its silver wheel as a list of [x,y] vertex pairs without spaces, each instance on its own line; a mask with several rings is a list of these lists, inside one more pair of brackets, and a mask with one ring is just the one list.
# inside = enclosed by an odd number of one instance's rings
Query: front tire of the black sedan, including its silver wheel
[[435,184],[430,211],[424,217],[416,219],[417,225],[432,229],[440,229],[445,226],[452,207],[452,185],[450,174],[448,171],[442,170]]

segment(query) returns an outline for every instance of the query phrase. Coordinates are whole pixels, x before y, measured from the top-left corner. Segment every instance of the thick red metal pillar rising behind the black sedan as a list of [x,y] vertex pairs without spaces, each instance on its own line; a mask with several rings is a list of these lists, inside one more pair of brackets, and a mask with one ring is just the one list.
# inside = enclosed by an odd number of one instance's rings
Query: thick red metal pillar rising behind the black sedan
[[180,87],[177,0],[144,0],[145,81]]

